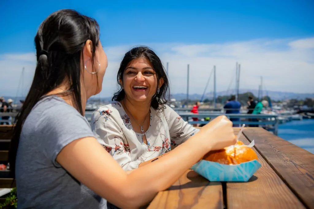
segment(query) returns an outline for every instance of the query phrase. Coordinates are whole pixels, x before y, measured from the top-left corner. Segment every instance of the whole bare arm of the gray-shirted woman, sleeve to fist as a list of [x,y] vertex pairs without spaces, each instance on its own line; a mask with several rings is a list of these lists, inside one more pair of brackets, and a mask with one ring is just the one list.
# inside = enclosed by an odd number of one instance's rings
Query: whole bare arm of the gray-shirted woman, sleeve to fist
[[56,161],[79,182],[121,208],[138,208],[171,186],[208,151],[236,143],[232,122],[215,118],[166,156],[133,170],[121,166],[93,137],[74,140]]

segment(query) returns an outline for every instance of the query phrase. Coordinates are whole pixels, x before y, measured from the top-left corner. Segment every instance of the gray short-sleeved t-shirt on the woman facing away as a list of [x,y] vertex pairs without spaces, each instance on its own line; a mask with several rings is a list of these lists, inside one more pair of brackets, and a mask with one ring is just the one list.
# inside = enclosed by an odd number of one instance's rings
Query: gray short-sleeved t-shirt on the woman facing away
[[63,147],[83,137],[94,137],[88,121],[60,97],[35,105],[24,122],[16,157],[18,208],[106,208],[106,200],[56,162]]

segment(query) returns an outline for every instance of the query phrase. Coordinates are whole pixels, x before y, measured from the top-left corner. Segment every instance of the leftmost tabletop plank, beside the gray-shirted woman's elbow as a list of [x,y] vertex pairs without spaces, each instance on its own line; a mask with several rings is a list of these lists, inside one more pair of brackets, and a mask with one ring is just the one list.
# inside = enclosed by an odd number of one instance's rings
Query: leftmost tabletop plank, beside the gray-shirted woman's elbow
[[158,193],[148,206],[148,209],[153,208],[222,209],[222,185],[188,170],[168,190]]

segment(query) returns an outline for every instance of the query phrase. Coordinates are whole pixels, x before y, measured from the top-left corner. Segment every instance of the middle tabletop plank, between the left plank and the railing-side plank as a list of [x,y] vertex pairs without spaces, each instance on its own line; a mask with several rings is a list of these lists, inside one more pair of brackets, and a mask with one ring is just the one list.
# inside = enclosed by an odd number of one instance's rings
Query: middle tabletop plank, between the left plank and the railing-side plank
[[[237,132],[238,130],[235,129],[235,134]],[[250,143],[243,135],[240,137],[240,141],[246,145]],[[256,144],[256,140],[254,142]],[[256,149],[254,150],[256,151]],[[305,208],[258,152],[257,156],[262,167],[257,170],[248,182],[226,183],[227,208]]]

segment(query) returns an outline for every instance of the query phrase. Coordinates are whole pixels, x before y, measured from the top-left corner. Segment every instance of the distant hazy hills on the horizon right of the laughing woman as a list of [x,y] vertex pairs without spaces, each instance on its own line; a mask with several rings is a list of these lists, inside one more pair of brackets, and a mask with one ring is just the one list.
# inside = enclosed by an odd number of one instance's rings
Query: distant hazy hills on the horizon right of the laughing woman
[[[218,96],[225,96],[234,94],[235,90],[230,91],[219,91],[216,93]],[[258,96],[258,90],[254,89],[240,89],[239,93],[243,94],[246,92],[251,92],[254,94],[255,97]],[[186,99],[187,94],[186,93],[179,93],[179,94],[172,94],[172,98],[175,98],[176,100]],[[293,92],[281,92],[281,91],[263,91],[263,96],[269,96],[272,100],[283,100],[283,99],[305,99],[305,98],[314,98],[314,93],[311,94],[303,94],[303,93],[293,93]],[[202,94],[190,94],[189,99],[191,100],[199,100],[201,99]],[[205,94],[204,99],[212,99],[213,98],[213,92],[208,92]]]

